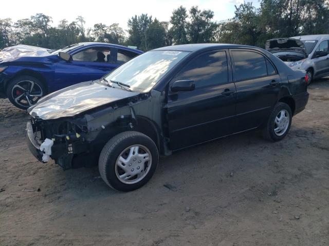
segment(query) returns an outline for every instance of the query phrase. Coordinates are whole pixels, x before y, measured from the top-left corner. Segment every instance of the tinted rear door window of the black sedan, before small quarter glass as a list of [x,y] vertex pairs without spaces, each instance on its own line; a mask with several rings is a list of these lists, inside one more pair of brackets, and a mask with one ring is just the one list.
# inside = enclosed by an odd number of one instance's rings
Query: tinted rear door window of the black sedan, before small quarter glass
[[267,76],[265,57],[261,54],[252,51],[233,50],[232,56],[235,81]]

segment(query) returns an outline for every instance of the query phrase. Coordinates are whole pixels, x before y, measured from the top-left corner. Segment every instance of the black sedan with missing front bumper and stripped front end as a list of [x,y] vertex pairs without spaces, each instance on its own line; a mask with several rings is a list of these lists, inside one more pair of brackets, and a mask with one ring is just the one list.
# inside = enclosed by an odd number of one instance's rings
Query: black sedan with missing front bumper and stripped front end
[[152,177],[159,155],[258,128],[283,139],[307,100],[305,72],[263,49],[163,47],[42,98],[28,110],[28,143],[64,169],[98,162],[108,186],[131,191]]

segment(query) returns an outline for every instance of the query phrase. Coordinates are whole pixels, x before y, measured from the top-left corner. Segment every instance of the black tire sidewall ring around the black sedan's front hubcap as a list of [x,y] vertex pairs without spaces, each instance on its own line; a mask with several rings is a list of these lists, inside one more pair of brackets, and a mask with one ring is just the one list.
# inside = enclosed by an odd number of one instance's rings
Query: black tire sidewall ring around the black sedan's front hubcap
[[[126,184],[126,183],[122,183],[116,173],[115,173],[115,168],[116,168],[116,161],[117,158],[119,157],[119,155],[121,154],[121,152],[132,145],[143,145],[145,147],[147,147],[152,155],[152,165],[151,165],[151,169],[149,170],[148,174],[139,182],[137,183],[133,183],[133,184]],[[109,183],[109,185],[114,188],[115,190],[118,191],[132,191],[132,190],[136,190],[140,187],[142,187],[143,185],[145,185],[145,183],[147,183],[151,177],[153,176],[156,168],[157,168],[157,164],[159,161],[159,154],[158,154],[158,149],[156,148],[156,145],[154,144],[154,142],[148,138],[148,137],[144,137],[142,135],[137,135],[137,136],[133,136],[133,137],[129,137],[129,138],[125,138],[122,141],[119,142],[119,144],[117,144],[117,146],[115,146],[115,148],[112,150],[111,153],[109,153],[107,160],[106,160],[106,165],[105,165],[105,175],[106,175],[106,179]]]

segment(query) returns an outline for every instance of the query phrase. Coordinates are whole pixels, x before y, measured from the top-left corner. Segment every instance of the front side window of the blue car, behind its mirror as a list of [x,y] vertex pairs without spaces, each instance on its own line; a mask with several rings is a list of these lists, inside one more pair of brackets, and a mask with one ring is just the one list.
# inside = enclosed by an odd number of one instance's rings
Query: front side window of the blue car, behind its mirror
[[94,47],[80,51],[72,56],[76,61],[97,61],[105,63],[106,57],[110,54],[109,48]]

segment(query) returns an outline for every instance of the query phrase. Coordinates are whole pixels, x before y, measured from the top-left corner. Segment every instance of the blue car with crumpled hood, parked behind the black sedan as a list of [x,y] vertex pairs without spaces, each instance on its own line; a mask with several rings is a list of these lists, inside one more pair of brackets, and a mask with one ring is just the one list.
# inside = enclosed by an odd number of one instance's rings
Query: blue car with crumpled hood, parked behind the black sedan
[[17,45],[0,52],[0,91],[27,109],[44,95],[94,80],[143,53],[105,43],[79,43],[60,50]]

